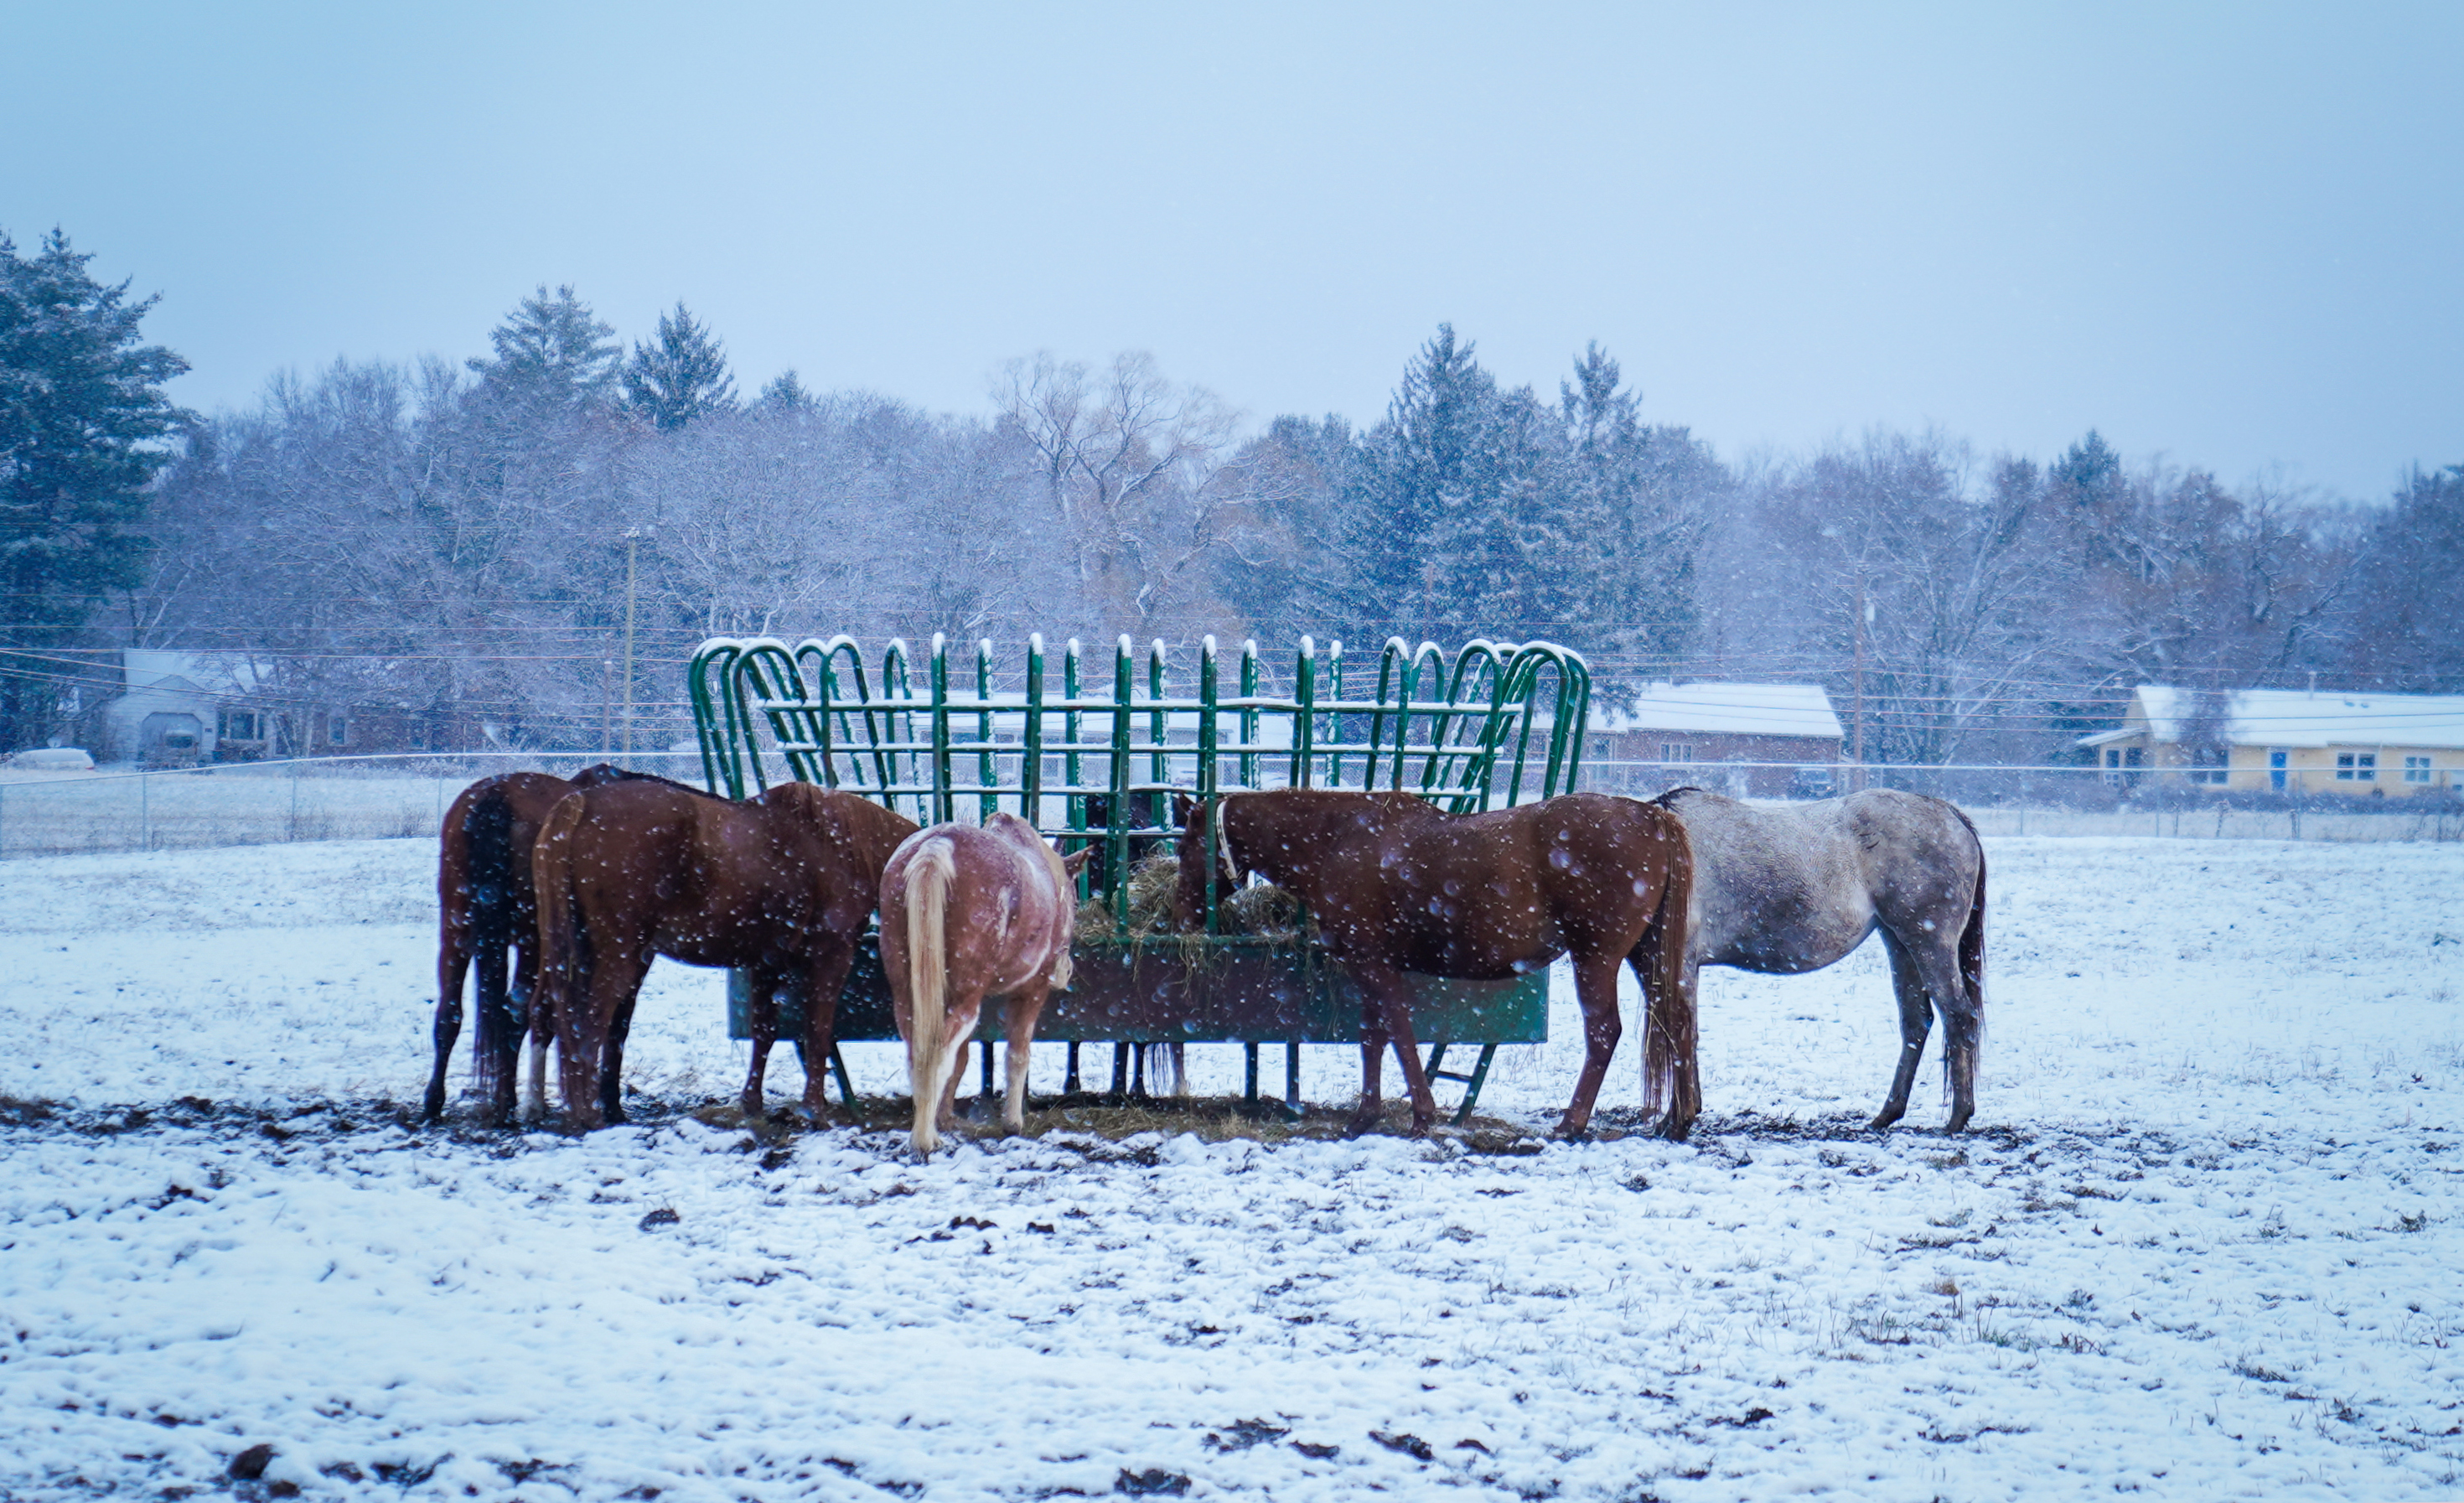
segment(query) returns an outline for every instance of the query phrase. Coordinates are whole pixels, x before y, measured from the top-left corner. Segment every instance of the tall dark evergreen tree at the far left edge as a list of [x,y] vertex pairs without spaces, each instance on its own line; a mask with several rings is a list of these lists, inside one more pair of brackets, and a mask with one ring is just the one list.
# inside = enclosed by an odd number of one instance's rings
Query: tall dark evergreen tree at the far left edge
[[138,342],[155,298],[94,281],[91,259],[59,229],[32,256],[0,234],[0,749],[52,729],[59,663],[25,653],[138,584],[158,441],[187,421],[163,394],[187,362]]

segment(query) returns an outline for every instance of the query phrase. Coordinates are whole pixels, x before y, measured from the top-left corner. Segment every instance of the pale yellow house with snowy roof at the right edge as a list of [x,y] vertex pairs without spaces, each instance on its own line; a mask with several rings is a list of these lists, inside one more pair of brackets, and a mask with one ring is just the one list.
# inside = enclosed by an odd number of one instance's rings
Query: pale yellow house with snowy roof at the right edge
[[2464,791],[2464,697],[2341,690],[2198,695],[2139,685],[2109,732],[2080,737],[2104,781],[2245,793],[2410,798]]

